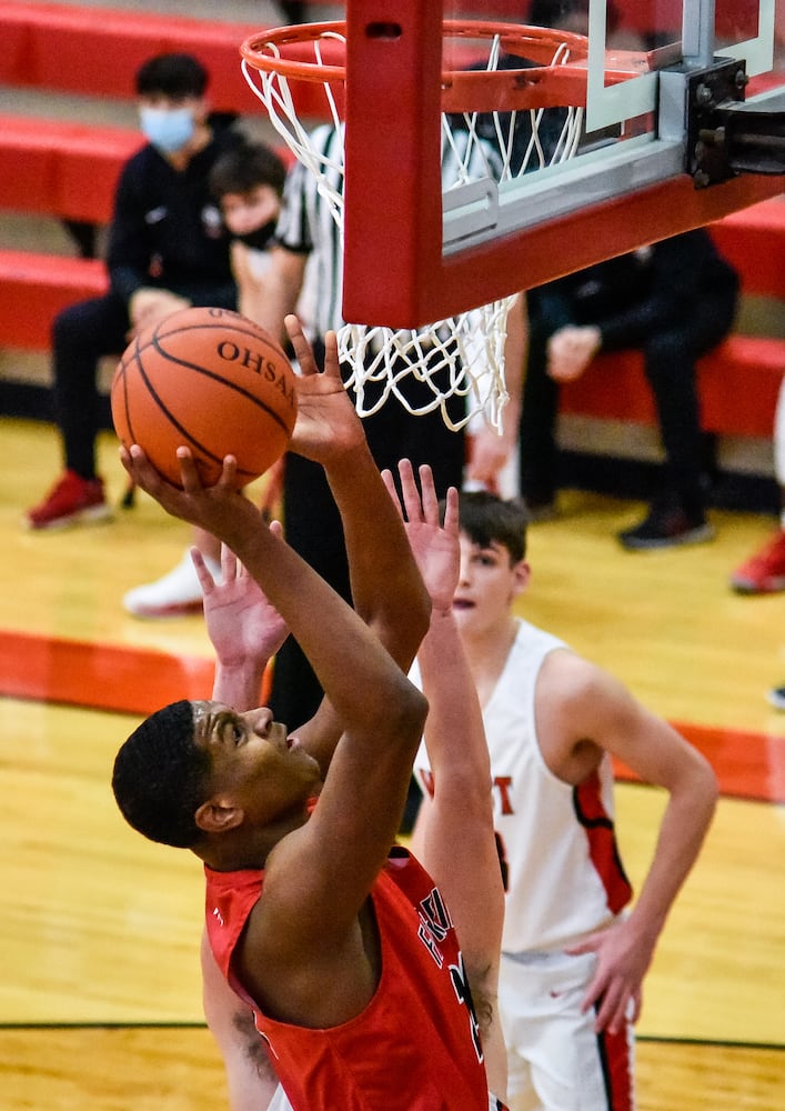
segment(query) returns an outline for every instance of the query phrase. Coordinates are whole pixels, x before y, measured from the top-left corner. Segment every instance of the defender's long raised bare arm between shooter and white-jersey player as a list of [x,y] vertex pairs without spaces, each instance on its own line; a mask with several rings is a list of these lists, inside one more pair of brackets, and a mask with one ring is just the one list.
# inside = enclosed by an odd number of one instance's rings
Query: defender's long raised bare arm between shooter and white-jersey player
[[[421,830],[420,861],[453,919],[483,1037],[491,1091],[506,1092],[506,1053],[496,1009],[504,889],[493,828],[491,761],[480,701],[453,617],[459,579],[457,491],[446,496],[444,523],[429,467],[399,466],[406,534],[431,597],[431,622],[417,653],[429,700],[425,744],[434,793]],[[391,501],[397,497],[389,471]]]

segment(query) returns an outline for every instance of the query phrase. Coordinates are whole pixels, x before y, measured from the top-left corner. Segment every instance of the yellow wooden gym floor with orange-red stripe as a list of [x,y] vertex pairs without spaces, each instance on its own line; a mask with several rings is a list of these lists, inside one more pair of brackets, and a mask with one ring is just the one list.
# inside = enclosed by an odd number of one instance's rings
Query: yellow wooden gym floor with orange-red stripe
[[[111,524],[36,536],[26,507],[59,471],[54,434],[0,419],[0,1107],[213,1111],[221,1065],[201,1015],[194,858],[125,828],[109,778],[139,717],[208,693],[198,618],[140,622],[120,599],[180,558],[188,530],[149,499]],[[124,472],[101,442],[109,492]],[[641,1111],[785,1107],[785,595],[727,575],[774,519],[713,514],[717,540],[627,554],[640,504],[567,492],[531,530],[521,612],[620,675],[712,759],[723,798],[667,924],[638,1027]],[[633,880],[661,792],[620,769]]]

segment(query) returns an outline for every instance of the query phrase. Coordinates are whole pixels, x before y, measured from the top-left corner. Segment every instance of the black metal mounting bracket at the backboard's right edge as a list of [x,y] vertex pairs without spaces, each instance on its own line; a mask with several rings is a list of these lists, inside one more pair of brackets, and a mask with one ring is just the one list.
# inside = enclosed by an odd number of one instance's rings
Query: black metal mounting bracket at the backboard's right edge
[[686,166],[698,189],[739,173],[785,174],[785,96],[744,100],[744,61],[686,72]]

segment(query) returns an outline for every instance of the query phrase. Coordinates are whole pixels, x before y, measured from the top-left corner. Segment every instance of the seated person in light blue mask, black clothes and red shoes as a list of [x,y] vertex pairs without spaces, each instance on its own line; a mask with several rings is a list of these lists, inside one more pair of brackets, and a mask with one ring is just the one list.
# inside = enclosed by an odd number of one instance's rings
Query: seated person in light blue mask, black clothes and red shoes
[[132,337],[194,306],[233,309],[229,239],[210,194],[217,159],[242,141],[233,118],[212,114],[208,73],[190,54],[160,54],[137,73],[148,142],[125,163],[114,200],[107,267],[110,289],[64,309],[52,328],[56,417],[64,474],[28,511],[31,529],[110,516],[95,472],[100,427],[98,361]]

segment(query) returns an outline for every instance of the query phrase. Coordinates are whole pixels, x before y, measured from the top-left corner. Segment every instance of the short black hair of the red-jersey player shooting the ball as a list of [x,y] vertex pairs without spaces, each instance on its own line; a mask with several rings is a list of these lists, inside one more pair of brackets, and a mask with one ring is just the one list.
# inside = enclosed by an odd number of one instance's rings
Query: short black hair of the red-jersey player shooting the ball
[[191,849],[207,799],[210,757],[194,741],[193,707],[172,702],[147,718],[114,759],[112,791],[123,818],[151,841]]

